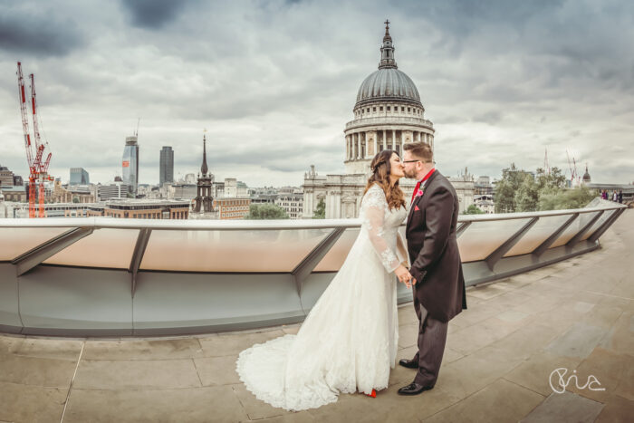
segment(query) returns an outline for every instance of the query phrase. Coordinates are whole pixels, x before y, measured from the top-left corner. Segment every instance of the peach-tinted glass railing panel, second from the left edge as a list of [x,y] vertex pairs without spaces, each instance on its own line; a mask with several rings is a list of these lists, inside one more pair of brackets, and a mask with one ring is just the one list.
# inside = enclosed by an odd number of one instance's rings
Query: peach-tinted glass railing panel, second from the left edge
[[139,229],[95,229],[43,263],[127,269],[137,237]]

